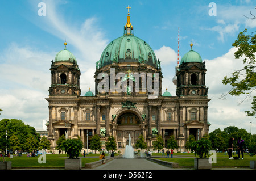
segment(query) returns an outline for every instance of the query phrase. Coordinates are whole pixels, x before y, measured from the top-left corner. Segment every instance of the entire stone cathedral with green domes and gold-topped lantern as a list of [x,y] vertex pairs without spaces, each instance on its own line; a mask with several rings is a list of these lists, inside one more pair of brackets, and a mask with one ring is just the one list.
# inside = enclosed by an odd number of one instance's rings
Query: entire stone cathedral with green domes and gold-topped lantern
[[131,137],[135,145],[143,135],[149,149],[156,136],[165,144],[174,136],[179,151],[193,134],[198,140],[208,134],[208,87],[205,62],[199,53],[185,53],[172,80],[176,96],[164,90],[163,74],[154,50],[134,36],[128,8],[123,36],[111,41],[96,62],[95,95],[81,95],[79,61],[65,48],[51,62],[51,86],[48,101],[48,140],[51,149],[61,135],[81,138],[84,148],[98,134],[102,148],[109,136],[117,148],[125,148]]

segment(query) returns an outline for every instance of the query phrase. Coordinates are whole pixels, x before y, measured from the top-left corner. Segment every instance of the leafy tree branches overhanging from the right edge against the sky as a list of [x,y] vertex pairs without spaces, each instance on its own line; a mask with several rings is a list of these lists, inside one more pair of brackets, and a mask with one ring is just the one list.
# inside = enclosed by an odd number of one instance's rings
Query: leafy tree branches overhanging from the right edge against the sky
[[[232,44],[232,46],[238,48],[234,53],[236,59],[243,57],[243,64],[245,65],[240,70],[235,70],[231,77],[225,76],[222,80],[224,85],[230,84],[232,89],[228,92],[230,95],[240,96],[241,94],[246,94],[246,98],[256,89],[256,74],[255,74],[255,52],[256,52],[256,34],[245,35],[247,29],[240,32],[237,40]],[[227,94],[226,94],[227,95]],[[224,98],[222,96],[222,98]],[[245,100],[244,99],[244,100]],[[243,101],[242,101],[243,102]],[[256,96],[253,96],[251,102],[251,111],[245,111],[247,116],[256,115]]]

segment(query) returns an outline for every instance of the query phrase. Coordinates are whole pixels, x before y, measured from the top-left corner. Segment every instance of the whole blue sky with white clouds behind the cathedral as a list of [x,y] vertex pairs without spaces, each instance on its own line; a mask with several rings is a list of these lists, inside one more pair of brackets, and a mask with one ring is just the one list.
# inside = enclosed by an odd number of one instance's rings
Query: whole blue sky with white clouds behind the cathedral
[[[39,16],[38,4],[46,5],[46,16]],[[216,5],[216,16],[210,16],[209,3]],[[82,95],[89,87],[94,91],[95,63],[108,43],[123,35],[130,6],[134,35],[146,41],[162,62],[163,91],[175,96],[172,83],[177,64],[177,36],[180,28],[180,58],[190,50],[199,52],[207,66],[208,120],[214,129],[229,125],[250,132],[250,121],[244,113],[250,100],[227,96],[230,90],[221,83],[232,70],[241,68],[234,59],[232,43],[245,28],[255,31],[255,2],[247,1],[2,1],[0,6],[0,119],[23,120],[42,128],[48,119],[48,87],[51,84],[51,60],[67,49],[80,66]],[[244,16],[245,15],[245,16]],[[255,92],[254,92],[255,94]],[[240,105],[238,103],[242,102]]]

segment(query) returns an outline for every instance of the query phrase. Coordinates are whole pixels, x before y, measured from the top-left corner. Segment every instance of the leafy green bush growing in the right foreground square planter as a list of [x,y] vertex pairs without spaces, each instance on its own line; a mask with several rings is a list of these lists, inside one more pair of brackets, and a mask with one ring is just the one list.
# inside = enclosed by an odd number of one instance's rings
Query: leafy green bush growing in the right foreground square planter
[[207,158],[209,150],[212,148],[212,142],[207,138],[201,138],[198,141],[192,142],[191,151],[200,158]]

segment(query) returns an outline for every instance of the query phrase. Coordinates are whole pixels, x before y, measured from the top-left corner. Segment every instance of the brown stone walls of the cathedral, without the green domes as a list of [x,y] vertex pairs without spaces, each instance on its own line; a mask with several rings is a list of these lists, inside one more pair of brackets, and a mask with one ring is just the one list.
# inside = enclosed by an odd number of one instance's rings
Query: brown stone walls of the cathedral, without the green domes
[[[125,64],[126,65],[126,64]],[[116,65],[114,65],[116,66]],[[207,89],[205,87],[205,65],[195,63],[193,66],[180,65],[177,72],[177,95],[164,97],[162,92],[162,73],[160,69],[149,65],[143,65],[144,70],[160,73],[159,95],[157,98],[148,98],[148,92],[139,89],[138,92],[98,91],[100,81],[97,75],[100,72],[110,74],[113,65],[96,69],[96,96],[81,96],[78,65],[67,62],[52,62],[52,85],[49,88],[49,125],[48,140],[51,147],[55,148],[56,141],[62,134],[68,138],[81,137],[86,148],[86,134],[89,134],[89,143],[92,136],[101,136],[102,146],[111,135],[115,137],[118,148],[126,146],[131,135],[131,144],[134,145],[140,134],[143,134],[148,148],[152,148],[152,141],[156,134],[162,135],[164,142],[170,136],[174,136],[179,145],[179,150],[185,150],[185,142],[189,134],[196,139],[208,134],[209,124],[207,119],[208,102]],[[185,67],[185,68],[183,68]],[[118,64],[119,71],[139,71],[139,63],[127,67]],[[65,74],[67,82],[61,83],[61,75]],[[192,85],[189,81],[192,74],[196,74],[196,80],[200,82]],[[185,77],[187,75],[187,77]],[[75,77],[74,77],[75,76]],[[110,75],[109,75],[110,76]],[[192,75],[193,78],[193,75]],[[110,79],[110,77],[109,77]],[[185,81],[183,81],[185,80]],[[127,84],[128,85],[128,84]],[[63,91],[64,90],[64,91]],[[196,92],[191,93],[193,90]],[[182,93],[181,93],[182,92]],[[186,93],[184,93],[186,92]],[[144,117],[142,115],[146,115]],[[101,129],[105,128],[102,135]],[[152,133],[152,129],[157,132]],[[90,144],[89,144],[90,145]]]

